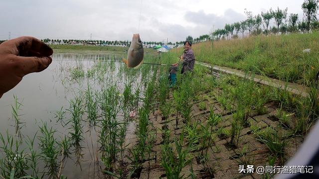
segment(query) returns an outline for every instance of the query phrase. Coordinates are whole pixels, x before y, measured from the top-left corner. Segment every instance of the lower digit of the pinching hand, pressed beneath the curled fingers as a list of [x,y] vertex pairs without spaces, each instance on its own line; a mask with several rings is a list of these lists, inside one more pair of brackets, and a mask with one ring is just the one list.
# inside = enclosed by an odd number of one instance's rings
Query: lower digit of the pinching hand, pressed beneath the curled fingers
[[41,72],[52,62],[51,57],[18,57],[22,76],[33,72]]

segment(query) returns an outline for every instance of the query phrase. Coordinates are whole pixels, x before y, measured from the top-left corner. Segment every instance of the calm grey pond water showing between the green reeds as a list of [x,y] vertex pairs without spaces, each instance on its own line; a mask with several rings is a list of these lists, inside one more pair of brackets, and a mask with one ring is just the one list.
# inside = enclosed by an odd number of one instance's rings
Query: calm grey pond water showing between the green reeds
[[[21,149],[27,148],[25,143],[27,137],[33,137],[36,134],[33,148],[40,152],[38,149],[39,126],[47,123],[48,127],[56,130],[54,137],[57,141],[60,141],[64,136],[70,136],[70,124],[62,125],[61,122],[57,122],[57,118],[55,118],[57,111],[65,111],[64,120],[68,120],[70,118],[70,111],[68,111],[70,100],[74,99],[75,96],[84,96],[88,85],[93,91],[101,91],[113,86],[120,94],[123,93],[127,84],[132,85],[132,94],[136,89],[143,90],[142,82],[147,76],[145,74],[150,74],[152,67],[143,68],[142,66],[139,70],[127,69],[125,64],[121,63],[125,55],[122,53],[103,55],[53,54],[52,64],[46,70],[26,75],[15,88],[4,93],[0,98],[1,134],[6,136],[7,132],[14,139],[22,139],[24,142],[21,144]],[[114,63],[115,61],[116,63]],[[14,106],[14,96],[22,104],[18,110],[20,121],[18,132],[12,116],[11,105]],[[83,107],[83,111],[85,111],[85,107]],[[123,111],[118,114],[117,118],[123,120]],[[84,112],[81,121],[84,132],[84,140],[80,143],[81,155],[73,154],[71,159],[64,162],[62,174],[68,179],[102,177],[103,165],[98,155],[98,130],[90,128],[86,119],[87,114]],[[134,143],[135,122],[128,123],[127,128],[126,143]],[[2,145],[0,143],[0,146]],[[3,155],[2,152],[1,158]],[[77,159],[80,159],[79,162]],[[41,163],[39,161],[40,171],[42,170]]]

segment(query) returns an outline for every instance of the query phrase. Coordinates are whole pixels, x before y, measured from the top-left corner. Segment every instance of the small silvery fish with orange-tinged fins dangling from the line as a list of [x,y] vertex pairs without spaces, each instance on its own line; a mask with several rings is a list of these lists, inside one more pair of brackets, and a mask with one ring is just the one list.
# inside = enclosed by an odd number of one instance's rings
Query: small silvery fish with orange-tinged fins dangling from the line
[[139,68],[143,63],[144,49],[140,39],[140,34],[133,34],[132,42],[128,50],[128,58],[123,59],[123,62],[129,68]]

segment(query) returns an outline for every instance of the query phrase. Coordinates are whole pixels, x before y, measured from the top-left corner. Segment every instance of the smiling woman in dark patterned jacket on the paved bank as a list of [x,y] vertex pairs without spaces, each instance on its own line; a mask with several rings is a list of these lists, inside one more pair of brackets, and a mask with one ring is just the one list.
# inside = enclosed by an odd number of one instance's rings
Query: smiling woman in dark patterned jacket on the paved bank
[[[180,74],[193,71],[195,65],[195,55],[193,50],[191,49],[191,42],[188,40],[184,42],[184,52],[179,57],[179,62],[182,65]],[[179,63],[175,63],[172,64],[169,69],[169,88],[172,88],[176,85],[176,73],[178,71],[178,66]]]

